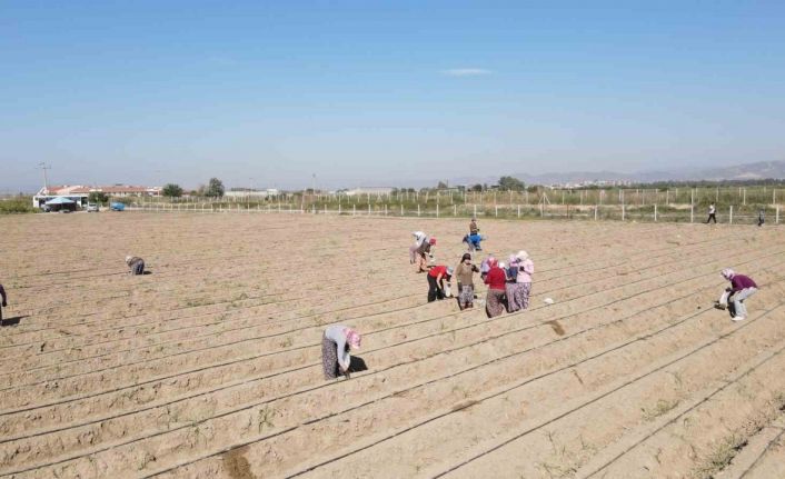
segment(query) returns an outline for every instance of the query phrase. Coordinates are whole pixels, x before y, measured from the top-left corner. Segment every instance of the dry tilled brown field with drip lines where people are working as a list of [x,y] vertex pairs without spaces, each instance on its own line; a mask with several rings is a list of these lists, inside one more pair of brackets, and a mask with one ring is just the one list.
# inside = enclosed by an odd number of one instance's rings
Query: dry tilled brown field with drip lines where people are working
[[[456,265],[467,223],[0,217],[0,476],[785,477],[782,227],[484,220],[536,266],[488,319],[408,262],[423,229]],[[724,267],[761,287],[745,321]],[[367,370],[326,381],[336,322]]]

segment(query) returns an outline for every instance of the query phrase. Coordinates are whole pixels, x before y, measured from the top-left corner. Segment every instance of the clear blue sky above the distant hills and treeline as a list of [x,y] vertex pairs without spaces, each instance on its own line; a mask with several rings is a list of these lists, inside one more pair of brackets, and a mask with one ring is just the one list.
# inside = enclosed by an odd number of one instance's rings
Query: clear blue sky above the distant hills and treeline
[[0,0],[0,191],[784,152],[783,1]]

